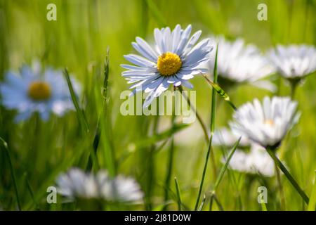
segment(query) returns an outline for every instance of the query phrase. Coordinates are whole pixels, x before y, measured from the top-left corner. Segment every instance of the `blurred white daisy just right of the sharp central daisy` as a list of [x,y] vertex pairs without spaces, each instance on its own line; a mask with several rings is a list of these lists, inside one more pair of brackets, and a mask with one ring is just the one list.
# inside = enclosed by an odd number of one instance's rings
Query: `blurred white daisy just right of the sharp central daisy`
[[[228,41],[224,37],[213,38],[218,43],[217,71],[218,83],[225,86],[246,83],[258,86],[270,91],[275,91],[275,86],[261,80],[275,72],[275,68],[252,44],[244,44],[244,40]],[[215,58],[216,51],[211,58]],[[212,72],[214,62],[209,61],[209,71]]]

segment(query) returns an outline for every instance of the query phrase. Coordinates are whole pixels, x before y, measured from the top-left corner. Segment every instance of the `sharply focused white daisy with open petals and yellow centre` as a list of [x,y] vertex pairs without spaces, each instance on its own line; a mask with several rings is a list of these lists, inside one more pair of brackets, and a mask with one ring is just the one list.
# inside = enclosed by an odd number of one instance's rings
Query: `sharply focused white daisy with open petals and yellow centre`
[[[197,40],[201,31],[195,32],[190,37],[191,25],[185,30],[180,25],[171,32],[169,27],[154,29],[155,45],[152,47],[140,37],[132,45],[141,56],[130,54],[124,56],[134,65],[121,65],[127,71],[122,76],[128,80],[133,94],[136,91],[148,93],[143,107],[147,107],[152,100],[162,92],[173,86],[183,85],[192,88],[187,82],[195,75],[205,73],[207,70],[201,68],[202,63],[210,59],[213,49],[210,39],[204,39],[198,44]],[[196,44],[196,45],[195,45]]]

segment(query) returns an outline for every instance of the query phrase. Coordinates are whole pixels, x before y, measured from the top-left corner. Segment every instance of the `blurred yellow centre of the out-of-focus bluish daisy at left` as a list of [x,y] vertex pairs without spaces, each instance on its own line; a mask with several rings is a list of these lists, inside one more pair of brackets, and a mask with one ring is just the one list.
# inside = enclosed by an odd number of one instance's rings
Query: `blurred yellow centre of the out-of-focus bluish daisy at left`
[[51,97],[51,86],[46,82],[32,82],[28,94],[35,101],[45,101]]

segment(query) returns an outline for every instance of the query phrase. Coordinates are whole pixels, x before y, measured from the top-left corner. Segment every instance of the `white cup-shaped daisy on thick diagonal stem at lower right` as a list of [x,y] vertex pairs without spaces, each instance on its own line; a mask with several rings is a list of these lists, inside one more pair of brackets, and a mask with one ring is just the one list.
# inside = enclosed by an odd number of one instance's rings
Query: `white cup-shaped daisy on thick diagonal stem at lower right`
[[276,148],[298,122],[296,108],[297,103],[289,97],[265,97],[263,105],[255,99],[237,109],[230,127],[265,148]]

